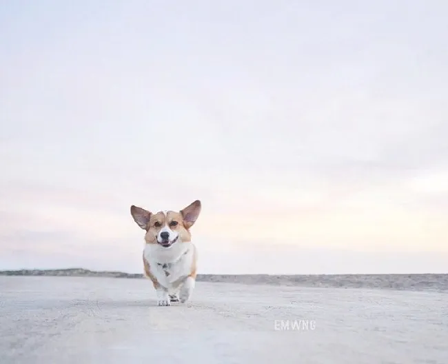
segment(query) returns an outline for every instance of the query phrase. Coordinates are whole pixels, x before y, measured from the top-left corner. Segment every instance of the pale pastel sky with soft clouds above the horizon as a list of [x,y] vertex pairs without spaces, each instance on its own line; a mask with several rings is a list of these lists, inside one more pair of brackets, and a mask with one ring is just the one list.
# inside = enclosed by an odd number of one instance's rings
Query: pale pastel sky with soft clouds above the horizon
[[447,1],[2,1],[0,269],[448,272]]

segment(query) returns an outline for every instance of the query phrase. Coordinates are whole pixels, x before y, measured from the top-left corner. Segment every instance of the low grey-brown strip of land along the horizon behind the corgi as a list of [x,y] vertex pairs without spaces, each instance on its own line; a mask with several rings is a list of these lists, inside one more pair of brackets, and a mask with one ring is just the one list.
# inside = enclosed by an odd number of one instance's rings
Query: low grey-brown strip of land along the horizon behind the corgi
[[[1,270],[0,276],[72,276],[143,279],[143,274],[83,268]],[[370,288],[448,292],[448,274],[198,274],[197,281],[296,287]]]

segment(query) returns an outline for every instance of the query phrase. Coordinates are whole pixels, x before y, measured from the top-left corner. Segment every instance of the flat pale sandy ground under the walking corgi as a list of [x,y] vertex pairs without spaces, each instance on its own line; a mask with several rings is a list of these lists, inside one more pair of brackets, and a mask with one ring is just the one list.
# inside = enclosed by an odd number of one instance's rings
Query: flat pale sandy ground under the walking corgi
[[448,294],[0,277],[0,363],[448,363]]

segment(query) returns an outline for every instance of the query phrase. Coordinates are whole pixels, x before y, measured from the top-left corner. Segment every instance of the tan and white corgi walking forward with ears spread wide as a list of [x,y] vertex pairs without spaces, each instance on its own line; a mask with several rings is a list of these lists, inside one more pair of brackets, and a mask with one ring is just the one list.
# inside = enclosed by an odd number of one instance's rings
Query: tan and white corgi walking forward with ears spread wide
[[190,228],[201,212],[201,201],[196,200],[179,212],[152,213],[135,205],[131,215],[145,230],[143,267],[145,276],[156,290],[157,305],[188,301],[196,283],[196,246]]

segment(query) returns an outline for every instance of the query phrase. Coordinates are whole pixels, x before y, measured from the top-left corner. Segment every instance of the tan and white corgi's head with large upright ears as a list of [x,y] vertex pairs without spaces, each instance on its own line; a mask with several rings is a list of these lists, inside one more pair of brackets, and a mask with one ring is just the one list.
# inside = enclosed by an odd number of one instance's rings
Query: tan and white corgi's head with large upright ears
[[146,231],[147,244],[159,244],[171,247],[176,242],[191,241],[190,228],[196,222],[201,212],[201,201],[194,201],[179,212],[159,211],[153,214],[150,211],[131,206],[131,215],[140,228]]

